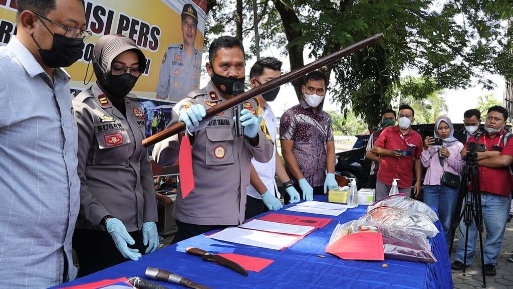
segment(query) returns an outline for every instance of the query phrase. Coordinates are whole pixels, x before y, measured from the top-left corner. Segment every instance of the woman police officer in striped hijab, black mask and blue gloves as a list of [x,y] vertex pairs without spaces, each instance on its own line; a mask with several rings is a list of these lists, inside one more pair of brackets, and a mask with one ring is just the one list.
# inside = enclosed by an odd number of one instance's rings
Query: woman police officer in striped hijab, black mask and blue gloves
[[79,276],[138,260],[159,246],[151,164],[141,144],[145,118],[130,94],[145,68],[132,40],[105,35],[94,47],[97,81],[73,100],[81,181],[73,234]]

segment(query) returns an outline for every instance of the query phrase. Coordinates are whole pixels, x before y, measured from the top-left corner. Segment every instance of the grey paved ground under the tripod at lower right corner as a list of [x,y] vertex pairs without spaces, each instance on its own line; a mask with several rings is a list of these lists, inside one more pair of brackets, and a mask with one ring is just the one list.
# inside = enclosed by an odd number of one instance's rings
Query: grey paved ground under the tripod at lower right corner
[[[457,236],[458,236],[457,232]],[[484,236],[483,236],[484,240]],[[479,247],[479,242],[478,242]],[[476,256],[480,256],[480,251]],[[497,264],[497,275],[494,277],[486,276],[486,288],[491,289],[513,289],[513,263],[508,262],[507,258],[513,254],[513,221],[507,224],[504,233],[504,242],[499,254]],[[456,255],[455,249],[452,252],[452,261]],[[466,276],[462,276],[461,271],[452,270],[452,282],[457,289],[481,288],[483,285],[481,275],[481,262],[479,257],[474,258],[472,265],[466,269]]]

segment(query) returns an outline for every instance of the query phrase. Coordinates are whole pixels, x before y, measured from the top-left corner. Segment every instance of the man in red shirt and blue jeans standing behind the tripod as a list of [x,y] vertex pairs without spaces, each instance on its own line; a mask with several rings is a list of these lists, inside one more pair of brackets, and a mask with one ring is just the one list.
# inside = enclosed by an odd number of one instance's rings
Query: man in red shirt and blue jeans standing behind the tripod
[[[505,131],[505,121],[508,117],[506,109],[496,105],[488,109],[485,121],[485,132],[472,135],[468,142],[482,143],[485,152],[478,152],[479,182],[481,186],[481,210],[483,222],[486,227],[484,241],[485,274],[495,276],[497,256],[502,247],[506,219],[509,211],[511,193],[511,170],[513,162],[513,140],[510,132]],[[468,145],[468,143],[467,143]],[[462,155],[467,154],[467,145]],[[465,184],[464,184],[465,185]],[[462,270],[472,263],[476,254],[476,238],[478,230],[474,223],[469,227],[467,260],[465,256],[465,227],[460,222],[461,237],[456,248],[456,259],[451,268]]]

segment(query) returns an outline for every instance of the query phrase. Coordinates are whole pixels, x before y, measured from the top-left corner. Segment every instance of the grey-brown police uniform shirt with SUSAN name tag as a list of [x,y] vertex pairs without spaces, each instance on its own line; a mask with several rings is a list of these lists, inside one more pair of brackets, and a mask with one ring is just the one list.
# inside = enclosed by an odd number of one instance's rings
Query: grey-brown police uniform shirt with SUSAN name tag
[[126,118],[97,84],[73,100],[78,127],[81,180],[77,228],[98,229],[105,215],[129,232],[156,222],[156,201],[145,138],[145,118],[137,97],[125,97]]

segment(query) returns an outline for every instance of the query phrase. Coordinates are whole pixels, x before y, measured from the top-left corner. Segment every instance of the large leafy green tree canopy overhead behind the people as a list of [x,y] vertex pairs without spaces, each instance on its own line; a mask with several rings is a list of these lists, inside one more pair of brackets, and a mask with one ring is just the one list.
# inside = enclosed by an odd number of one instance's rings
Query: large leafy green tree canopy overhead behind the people
[[[235,1],[243,1],[243,37],[254,43],[251,0],[214,1],[209,33],[233,34]],[[505,26],[513,16],[510,0],[258,0],[258,11],[262,49],[283,47],[291,69],[303,66],[305,56],[318,59],[384,33],[383,41],[323,68],[334,73],[331,90],[341,110],[348,112],[350,104],[371,127],[403,89],[420,99],[443,88],[467,87],[471,79],[491,88],[486,73],[513,76],[507,42],[513,29]],[[430,81],[404,87],[403,71]],[[299,98],[301,80],[292,84]]]

